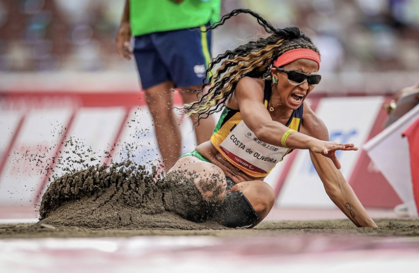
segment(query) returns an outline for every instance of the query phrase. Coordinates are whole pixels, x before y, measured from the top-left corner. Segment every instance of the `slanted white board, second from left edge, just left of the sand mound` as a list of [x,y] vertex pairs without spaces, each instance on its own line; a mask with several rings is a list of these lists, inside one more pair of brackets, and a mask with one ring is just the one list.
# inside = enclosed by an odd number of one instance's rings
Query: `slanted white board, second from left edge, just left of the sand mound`
[[0,176],[2,204],[30,204],[35,200],[72,112],[68,108],[36,109],[27,113]]

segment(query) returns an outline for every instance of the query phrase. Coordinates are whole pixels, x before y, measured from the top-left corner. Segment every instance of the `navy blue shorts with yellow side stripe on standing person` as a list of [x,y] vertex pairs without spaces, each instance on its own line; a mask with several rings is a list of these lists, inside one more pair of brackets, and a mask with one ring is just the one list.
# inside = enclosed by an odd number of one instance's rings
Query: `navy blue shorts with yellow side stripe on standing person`
[[136,36],[134,57],[142,88],[172,81],[175,87],[201,85],[211,62],[211,30],[205,26]]

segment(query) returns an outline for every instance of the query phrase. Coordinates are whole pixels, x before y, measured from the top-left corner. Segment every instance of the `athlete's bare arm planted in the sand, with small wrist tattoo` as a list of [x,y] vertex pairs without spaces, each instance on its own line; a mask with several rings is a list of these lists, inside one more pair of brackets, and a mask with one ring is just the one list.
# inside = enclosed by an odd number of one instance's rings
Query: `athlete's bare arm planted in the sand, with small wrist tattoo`
[[[319,140],[328,141],[329,139],[326,125],[306,105],[304,105],[301,132]],[[342,173],[335,166],[336,164],[332,162],[332,159],[311,151],[310,157],[323,182],[324,189],[333,203],[336,204],[356,226],[376,228],[376,224],[368,215]],[[337,160],[336,155],[333,154],[333,157]]]

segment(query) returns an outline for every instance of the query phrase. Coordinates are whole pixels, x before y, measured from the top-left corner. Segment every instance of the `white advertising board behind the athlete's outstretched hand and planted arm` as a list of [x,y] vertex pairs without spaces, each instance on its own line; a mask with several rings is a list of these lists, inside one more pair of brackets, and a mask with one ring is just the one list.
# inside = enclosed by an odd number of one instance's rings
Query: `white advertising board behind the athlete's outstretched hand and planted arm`
[[[360,147],[368,137],[383,100],[383,97],[325,98],[320,101],[316,114],[326,124],[330,141],[354,143]],[[359,155],[360,152],[337,152],[346,179],[349,179]],[[286,207],[334,206],[324,191],[308,151],[298,151],[277,204]]]

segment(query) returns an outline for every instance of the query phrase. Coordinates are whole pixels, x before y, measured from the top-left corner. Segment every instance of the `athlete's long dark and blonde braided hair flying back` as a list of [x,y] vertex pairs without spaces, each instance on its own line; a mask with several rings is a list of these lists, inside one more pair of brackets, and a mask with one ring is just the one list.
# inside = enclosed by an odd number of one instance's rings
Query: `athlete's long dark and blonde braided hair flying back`
[[[240,13],[247,13],[255,17],[270,35],[256,41],[249,41],[234,50],[228,50],[209,63],[205,74],[206,79],[203,80],[202,86],[195,90],[202,94],[204,87],[211,83],[208,92],[203,94],[198,101],[183,106],[186,116],[198,114],[198,124],[201,118],[207,118],[223,109],[226,99],[234,92],[241,78],[245,76],[269,77],[272,62],[283,53],[294,49],[310,49],[320,55],[311,39],[298,27],[276,29],[259,14],[247,9],[233,10],[205,31],[223,25],[226,20]],[[213,75],[211,71],[219,63],[221,66]]]

